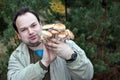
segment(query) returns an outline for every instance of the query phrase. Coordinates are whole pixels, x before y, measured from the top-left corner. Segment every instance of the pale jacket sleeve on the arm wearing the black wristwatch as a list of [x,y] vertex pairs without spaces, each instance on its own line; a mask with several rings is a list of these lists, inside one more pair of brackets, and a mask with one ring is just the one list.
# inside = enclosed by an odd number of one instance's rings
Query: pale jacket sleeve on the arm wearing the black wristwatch
[[94,73],[93,65],[85,55],[85,52],[73,41],[69,41],[68,44],[78,53],[75,61],[67,62],[72,80],[91,80]]

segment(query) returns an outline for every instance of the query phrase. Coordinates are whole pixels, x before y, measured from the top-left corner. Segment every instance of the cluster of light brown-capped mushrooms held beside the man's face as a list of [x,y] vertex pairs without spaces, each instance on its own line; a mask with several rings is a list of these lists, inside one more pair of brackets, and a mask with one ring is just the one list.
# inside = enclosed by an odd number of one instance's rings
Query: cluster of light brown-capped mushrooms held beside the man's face
[[65,42],[67,39],[74,39],[74,34],[62,23],[46,24],[42,27],[41,40],[46,42],[50,38]]

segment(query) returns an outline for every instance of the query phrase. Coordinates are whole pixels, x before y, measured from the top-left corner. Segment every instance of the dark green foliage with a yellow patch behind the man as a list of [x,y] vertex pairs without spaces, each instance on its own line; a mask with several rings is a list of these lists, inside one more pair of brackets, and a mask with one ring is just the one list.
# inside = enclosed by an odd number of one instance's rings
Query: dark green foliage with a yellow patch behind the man
[[0,80],[7,80],[10,54],[19,44],[12,15],[21,6],[40,14],[43,24],[60,21],[94,65],[93,80],[120,80],[119,0],[0,0]]

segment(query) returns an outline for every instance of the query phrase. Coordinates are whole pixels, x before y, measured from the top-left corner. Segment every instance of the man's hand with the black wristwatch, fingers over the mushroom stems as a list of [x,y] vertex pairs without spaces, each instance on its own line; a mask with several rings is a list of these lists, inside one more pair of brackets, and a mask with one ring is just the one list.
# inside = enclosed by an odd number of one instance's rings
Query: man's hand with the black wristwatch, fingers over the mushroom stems
[[74,53],[72,48],[65,42],[53,38],[47,43],[47,48],[50,51],[54,52],[54,54],[56,54],[57,56],[60,56],[61,58],[66,60],[70,59],[71,55]]

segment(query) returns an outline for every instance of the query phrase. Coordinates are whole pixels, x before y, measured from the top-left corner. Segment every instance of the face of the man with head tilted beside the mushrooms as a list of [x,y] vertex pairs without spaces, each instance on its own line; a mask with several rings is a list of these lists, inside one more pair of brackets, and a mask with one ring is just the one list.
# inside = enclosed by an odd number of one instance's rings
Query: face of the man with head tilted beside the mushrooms
[[40,44],[41,24],[32,13],[25,13],[16,19],[18,37],[31,47]]

